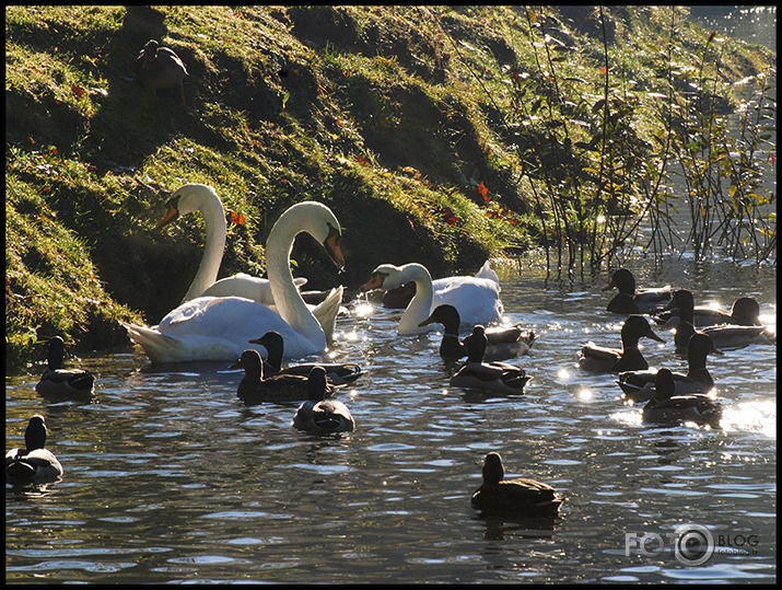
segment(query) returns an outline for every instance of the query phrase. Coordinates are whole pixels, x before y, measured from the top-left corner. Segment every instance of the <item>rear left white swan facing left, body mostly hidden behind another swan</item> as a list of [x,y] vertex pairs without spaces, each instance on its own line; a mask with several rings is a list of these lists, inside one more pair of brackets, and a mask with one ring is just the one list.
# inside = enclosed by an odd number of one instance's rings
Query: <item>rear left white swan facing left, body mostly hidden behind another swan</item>
[[[214,188],[205,184],[186,184],[177,188],[166,201],[166,213],[155,229],[167,225],[180,216],[200,211],[207,228],[203,256],[198,273],[180,303],[197,297],[244,297],[267,306],[272,306],[271,287],[268,279],[237,273],[220,280],[218,270],[225,250],[225,209]],[[301,287],[305,278],[294,282]]]

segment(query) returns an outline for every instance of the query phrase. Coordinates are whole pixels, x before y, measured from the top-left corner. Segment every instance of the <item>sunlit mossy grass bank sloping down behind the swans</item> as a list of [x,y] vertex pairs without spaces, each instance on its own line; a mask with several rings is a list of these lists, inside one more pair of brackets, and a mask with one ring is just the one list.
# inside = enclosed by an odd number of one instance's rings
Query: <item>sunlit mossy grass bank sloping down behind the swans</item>
[[[297,243],[314,288],[354,288],[384,262],[442,276],[535,246],[547,228],[518,141],[542,131],[511,116],[514,72],[541,71],[530,23],[548,23],[563,80],[598,92],[605,38],[643,95],[670,10],[615,8],[604,30],[585,7],[533,20],[504,7],[7,8],[7,370],[43,358],[54,334],[70,350],[128,346],[118,319],[154,324],[179,302],[203,221],[153,228],[188,182],[244,216],[221,277],[261,275],[271,223],[305,199],[334,209],[348,259],[337,278]],[[681,15],[681,59],[705,36]],[[150,38],[186,62],[185,107],[130,79]],[[724,43],[726,82],[774,59]]]

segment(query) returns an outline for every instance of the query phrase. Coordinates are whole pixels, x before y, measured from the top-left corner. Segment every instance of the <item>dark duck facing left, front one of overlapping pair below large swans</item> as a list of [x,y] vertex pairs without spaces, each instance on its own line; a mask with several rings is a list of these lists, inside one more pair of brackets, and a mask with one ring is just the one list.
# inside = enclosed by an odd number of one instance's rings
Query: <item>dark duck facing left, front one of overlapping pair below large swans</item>
[[[300,402],[308,397],[308,375],[277,374],[264,375],[264,361],[260,352],[248,348],[230,369],[244,369],[236,394],[247,405],[264,402]],[[326,386],[328,397],[336,391],[331,384]]]

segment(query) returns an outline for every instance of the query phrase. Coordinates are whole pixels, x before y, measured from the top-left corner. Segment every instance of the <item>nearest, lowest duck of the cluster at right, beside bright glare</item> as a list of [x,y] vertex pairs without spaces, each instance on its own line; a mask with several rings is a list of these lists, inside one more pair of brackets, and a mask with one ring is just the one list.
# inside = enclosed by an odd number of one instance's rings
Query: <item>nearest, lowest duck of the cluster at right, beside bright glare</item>
[[716,427],[722,406],[703,393],[676,395],[676,383],[669,369],[661,369],[655,377],[655,395],[643,406],[644,423],[696,423]]

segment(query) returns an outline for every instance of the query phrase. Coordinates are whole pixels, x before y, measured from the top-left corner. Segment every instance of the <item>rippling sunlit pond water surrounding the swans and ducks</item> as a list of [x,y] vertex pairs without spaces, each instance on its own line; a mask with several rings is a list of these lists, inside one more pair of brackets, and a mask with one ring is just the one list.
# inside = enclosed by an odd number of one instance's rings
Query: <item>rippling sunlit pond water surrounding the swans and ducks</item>
[[[628,266],[640,285],[687,287],[699,304],[756,297],[775,326],[774,267]],[[526,392],[448,386],[439,333],[399,337],[399,311],[353,300],[334,350],[364,371],[339,394],[358,425],[345,436],[294,430],[297,404],[245,406],[229,363],[160,370],[138,352],[85,358],[98,375],[89,403],[42,398],[38,374],[7,377],[7,448],[23,444],[42,413],[65,475],[7,486],[5,580],[775,581],[775,346],[710,358],[719,429],[644,425],[610,375],[574,368],[585,342],[618,343],[607,274],[546,281],[527,259],[499,270],[506,320],[539,335],[532,357],[514,361],[534,378]],[[673,335],[660,334],[665,345],[643,343],[650,363],[686,370]],[[506,476],[567,496],[560,517],[479,518],[469,498],[489,451]],[[705,564],[675,557],[670,535],[682,524],[712,533]],[[654,535],[662,551],[639,553]]]

